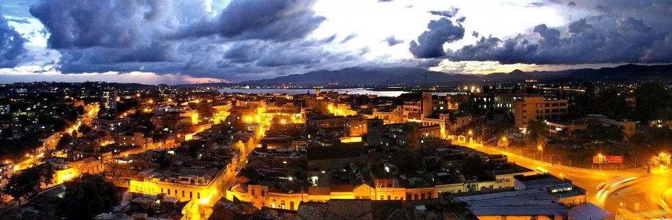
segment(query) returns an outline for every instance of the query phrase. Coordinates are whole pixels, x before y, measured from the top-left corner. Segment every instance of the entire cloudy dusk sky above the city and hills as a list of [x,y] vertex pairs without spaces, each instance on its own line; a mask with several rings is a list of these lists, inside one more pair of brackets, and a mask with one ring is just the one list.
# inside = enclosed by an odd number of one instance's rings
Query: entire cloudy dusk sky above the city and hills
[[672,63],[669,0],[2,0],[0,83]]

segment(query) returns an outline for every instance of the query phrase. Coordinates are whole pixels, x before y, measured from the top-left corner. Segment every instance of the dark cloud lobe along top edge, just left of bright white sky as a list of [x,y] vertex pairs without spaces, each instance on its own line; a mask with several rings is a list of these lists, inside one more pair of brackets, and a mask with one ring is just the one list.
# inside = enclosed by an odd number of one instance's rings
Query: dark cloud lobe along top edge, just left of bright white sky
[[232,1],[217,19],[199,21],[173,38],[197,38],[219,34],[233,40],[287,41],[307,36],[326,20],[315,16],[314,1]]

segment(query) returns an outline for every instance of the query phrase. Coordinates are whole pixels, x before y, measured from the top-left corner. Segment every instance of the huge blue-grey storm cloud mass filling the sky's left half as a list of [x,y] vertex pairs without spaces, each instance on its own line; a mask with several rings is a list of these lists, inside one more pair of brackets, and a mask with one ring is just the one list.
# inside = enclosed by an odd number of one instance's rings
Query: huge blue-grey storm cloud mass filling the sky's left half
[[149,71],[229,79],[317,68],[322,59],[360,60],[361,51],[322,48],[336,34],[302,39],[324,21],[313,3],[234,0],[214,16],[208,1],[39,0],[30,12],[45,25],[49,48],[62,54],[56,63],[62,73]]

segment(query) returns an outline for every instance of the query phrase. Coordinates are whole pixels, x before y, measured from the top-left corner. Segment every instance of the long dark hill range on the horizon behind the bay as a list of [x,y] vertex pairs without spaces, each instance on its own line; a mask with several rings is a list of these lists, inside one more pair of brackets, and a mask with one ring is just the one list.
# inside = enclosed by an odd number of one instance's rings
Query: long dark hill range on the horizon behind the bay
[[273,79],[252,80],[241,84],[278,85],[294,84],[302,86],[324,85],[336,82],[339,86],[389,84],[461,84],[475,82],[520,82],[522,80],[553,81],[601,81],[601,82],[672,82],[672,65],[643,66],[626,64],[613,68],[601,69],[568,69],[564,71],[531,71],[515,70],[510,73],[490,74],[456,74],[428,71],[421,68],[375,68],[363,69],[351,67],[336,71],[313,71],[304,74],[293,74]]

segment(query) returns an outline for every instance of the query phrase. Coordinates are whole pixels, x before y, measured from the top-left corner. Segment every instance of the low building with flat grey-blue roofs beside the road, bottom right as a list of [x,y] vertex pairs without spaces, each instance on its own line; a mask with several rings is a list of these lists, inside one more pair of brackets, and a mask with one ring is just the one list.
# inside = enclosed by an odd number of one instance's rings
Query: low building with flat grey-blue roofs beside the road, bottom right
[[[612,214],[586,201],[586,191],[549,175],[515,178],[518,190],[455,195],[478,219],[610,219]],[[588,204],[588,205],[586,205]],[[577,218],[580,217],[580,218]]]

